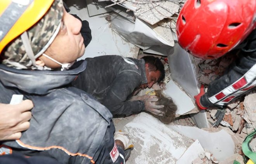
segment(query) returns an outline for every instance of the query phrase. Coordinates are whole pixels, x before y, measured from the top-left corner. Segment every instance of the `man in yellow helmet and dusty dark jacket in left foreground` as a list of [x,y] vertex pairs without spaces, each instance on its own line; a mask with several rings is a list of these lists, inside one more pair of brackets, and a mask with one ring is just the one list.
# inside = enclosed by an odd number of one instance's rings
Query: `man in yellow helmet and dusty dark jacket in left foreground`
[[[26,124],[2,137],[9,140],[1,141],[1,154],[48,156],[62,164],[125,163],[131,144],[123,134],[114,139],[109,110],[84,91],[66,87],[86,68],[86,62],[74,63],[85,51],[81,22],[64,10],[62,0],[1,0],[0,6],[0,106],[12,108],[3,104],[14,94],[33,102],[23,101],[19,118],[1,113],[0,118]],[[0,129],[6,128],[2,121]]]

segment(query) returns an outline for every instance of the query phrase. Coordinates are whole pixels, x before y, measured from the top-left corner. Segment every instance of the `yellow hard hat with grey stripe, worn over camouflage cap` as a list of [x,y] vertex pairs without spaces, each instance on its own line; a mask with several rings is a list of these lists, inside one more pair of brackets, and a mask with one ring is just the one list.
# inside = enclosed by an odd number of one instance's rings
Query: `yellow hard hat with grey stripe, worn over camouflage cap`
[[17,36],[32,27],[54,0],[0,0],[0,53]]

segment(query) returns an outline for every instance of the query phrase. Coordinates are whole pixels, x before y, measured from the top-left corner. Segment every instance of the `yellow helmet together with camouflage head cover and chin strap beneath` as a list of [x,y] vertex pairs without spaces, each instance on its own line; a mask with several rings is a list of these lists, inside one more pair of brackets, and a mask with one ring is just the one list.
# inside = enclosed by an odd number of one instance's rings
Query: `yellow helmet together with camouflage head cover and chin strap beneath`
[[2,64],[39,69],[36,59],[57,36],[63,9],[62,0],[0,0]]

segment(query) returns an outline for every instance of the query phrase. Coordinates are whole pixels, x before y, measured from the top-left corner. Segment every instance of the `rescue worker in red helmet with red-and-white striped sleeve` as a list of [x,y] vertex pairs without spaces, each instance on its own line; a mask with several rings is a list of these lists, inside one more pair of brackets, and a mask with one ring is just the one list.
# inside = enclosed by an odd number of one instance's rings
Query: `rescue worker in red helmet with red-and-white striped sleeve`
[[201,109],[223,107],[256,86],[256,1],[187,0],[180,11],[178,43],[201,59],[216,59],[233,49],[239,58],[208,91],[195,96]]

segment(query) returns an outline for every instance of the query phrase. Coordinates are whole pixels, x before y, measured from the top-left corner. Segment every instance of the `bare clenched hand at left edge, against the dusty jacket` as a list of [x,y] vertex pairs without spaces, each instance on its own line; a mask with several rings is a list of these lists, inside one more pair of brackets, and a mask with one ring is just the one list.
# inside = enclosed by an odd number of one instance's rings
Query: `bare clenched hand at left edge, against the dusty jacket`
[[17,105],[0,103],[0,141],[21,137],[21,132],[29,128],[31,108],[31,100],[24,100]]

